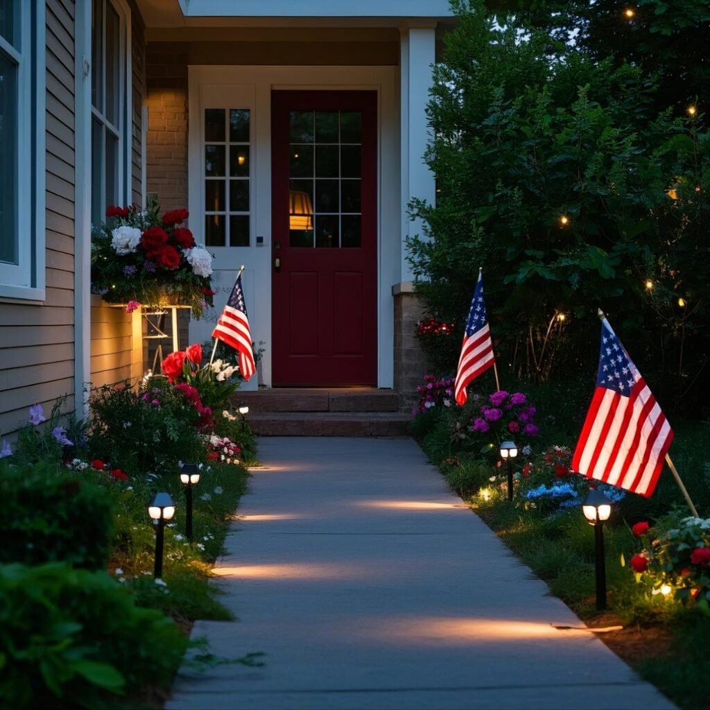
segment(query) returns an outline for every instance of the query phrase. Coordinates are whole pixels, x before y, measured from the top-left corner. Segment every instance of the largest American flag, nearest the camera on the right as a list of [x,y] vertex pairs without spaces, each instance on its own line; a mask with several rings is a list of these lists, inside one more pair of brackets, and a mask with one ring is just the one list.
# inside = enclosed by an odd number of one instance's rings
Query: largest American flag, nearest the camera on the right
[[648,498],[672,440],[661,408],[604,318],[596,390],[572,469]]

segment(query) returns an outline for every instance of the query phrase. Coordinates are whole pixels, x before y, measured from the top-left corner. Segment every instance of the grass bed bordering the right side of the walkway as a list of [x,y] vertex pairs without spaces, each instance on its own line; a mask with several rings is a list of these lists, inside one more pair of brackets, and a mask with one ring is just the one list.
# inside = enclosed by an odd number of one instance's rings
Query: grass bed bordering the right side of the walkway
[[[540,452],[552,445],[574,448],[591,388],[579,383],[550,383],[529,393],[537,405]],[[481,442],[460,437],[467,413],[430,410],[415,420],[413,433],[432,463],[439,466],[453,491],[468,501],[484,522],[515,555],[550,586],[552,594],[568,604],[581,618],[603,626],[621,622],[623,631],[603,635],[619,655],[645,679],[655,684],[681,708],[710,707],[710,672],[706,652],[710,617],[698,608],[652,595],[644,578],[637,581],[627,566],[640,550],[631,525],[655,522],[672,510],[689,515],[669,471],[664,471],[652,498],[627,494],[613,520],[605,526],[606,576],[609,614],[600,617],[595,605],[594,535],[579,508],[552,512],[525,509],[521,490],[508,502],[504,476],[495,460],[481,455]],[[459,422],[459,428],[456,422]],[[710,517],[710,422],[672,422],[675,439],[671,455],[701,515]],[[488,481],[498,474],[496,481]],[[555,483],[555,476],[544,481]],[[535,481],[538,485],[540,479]],[[559,482],[559,481],[558,481]],[[532,487],[521,481],[518,488]]]

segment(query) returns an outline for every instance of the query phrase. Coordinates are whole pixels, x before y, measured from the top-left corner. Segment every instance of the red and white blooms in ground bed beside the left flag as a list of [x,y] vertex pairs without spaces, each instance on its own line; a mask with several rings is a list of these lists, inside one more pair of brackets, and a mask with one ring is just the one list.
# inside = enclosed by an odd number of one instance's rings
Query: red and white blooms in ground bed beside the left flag
[[[211,416],[229,407],[231,395],[239,388],[239,380],[236,378],[238,368],[224,360],[215,360],[212,364],[203,364],[202,361],[202,346],[195,344],[188,345],[185,350],[170,353],[161,366],[168,382],[198,411],[200,408],[209,409]],[[197,400],[200,401],[199,406]]]

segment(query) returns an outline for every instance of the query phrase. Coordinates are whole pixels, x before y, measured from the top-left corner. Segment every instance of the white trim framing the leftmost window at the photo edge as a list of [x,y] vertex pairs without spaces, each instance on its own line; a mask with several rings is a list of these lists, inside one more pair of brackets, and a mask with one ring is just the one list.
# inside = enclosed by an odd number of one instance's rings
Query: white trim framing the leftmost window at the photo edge
[[[22,53],[0,39],[6,53],[19,65],[16,202],[19,264],[0,264],[0,297],[43,301],[46,243],[45,0],[23,1],[20,8]],[[28,117],[31,120],[27,120]],[[33,159],[23,160],[26,155],[33,156]]]

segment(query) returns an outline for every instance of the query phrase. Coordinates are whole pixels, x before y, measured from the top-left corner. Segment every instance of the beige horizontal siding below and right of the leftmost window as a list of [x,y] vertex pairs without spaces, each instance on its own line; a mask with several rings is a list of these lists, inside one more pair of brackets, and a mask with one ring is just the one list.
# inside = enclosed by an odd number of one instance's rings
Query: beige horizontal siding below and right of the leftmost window
[[72,0],[46,10],[46,299],[0,303],[0,435],[57,398],[74,408],[74,12]]

